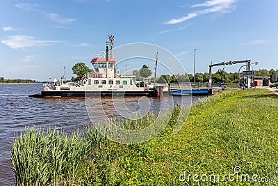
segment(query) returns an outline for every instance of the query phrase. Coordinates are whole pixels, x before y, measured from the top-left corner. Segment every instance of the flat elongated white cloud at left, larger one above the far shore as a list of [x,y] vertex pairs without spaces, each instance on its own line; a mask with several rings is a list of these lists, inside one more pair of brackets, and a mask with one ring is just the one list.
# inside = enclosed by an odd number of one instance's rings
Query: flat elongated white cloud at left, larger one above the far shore
[[33,36],[9,36],[7,40],[1,40],[1,43],[8,45],[12,49],[20,49],[25,47],[33,47],[38,45],[49,45],[52,42],[60,42],[57,40],[39,40]]

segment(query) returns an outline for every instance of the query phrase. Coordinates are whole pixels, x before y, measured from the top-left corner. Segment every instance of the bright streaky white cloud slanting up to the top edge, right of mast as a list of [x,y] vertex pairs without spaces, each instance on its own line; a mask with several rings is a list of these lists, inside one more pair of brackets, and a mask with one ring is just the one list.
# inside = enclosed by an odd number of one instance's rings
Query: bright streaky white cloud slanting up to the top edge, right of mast
[[204,3],[195,4],[191,7],[192,8],[207,7],[207,8],[204,10],[196,10],[193,13],[188,13],[188,15],[180,17],[178,19],[169,20],[168,22],[165,22],[165,24],[178,24],[186,20],[190,20],[199,15],[205,15],[208,13],[215,13],[215,12],[227,13],[231,8],[234,8],[232,4],[235,2],[236,0],[212,0],[212,1],[206,1]]

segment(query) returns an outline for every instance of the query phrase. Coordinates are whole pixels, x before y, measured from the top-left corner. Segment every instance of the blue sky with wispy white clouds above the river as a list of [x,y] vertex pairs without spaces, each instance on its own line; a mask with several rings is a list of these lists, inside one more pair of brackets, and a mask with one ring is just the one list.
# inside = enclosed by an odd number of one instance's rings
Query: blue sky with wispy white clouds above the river
[[45,80],[61,77],[64,65],[72,77],[72,65],[91,66],[108,34],[115,36],[115,47],[164,47],[189,73],[194,49],[197,72],[208,72],[211,61],[245,59],[259,61],[254,69],[278,69],[277,20],[277,0],[2,0],[0,77]]

